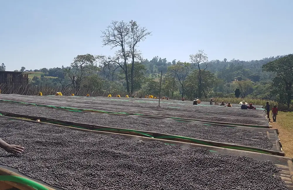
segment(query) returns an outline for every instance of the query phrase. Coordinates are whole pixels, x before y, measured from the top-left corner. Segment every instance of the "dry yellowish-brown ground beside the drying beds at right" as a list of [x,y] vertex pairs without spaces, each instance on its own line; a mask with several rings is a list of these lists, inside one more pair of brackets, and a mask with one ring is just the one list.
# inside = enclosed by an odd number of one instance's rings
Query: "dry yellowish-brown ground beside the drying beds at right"
[[[270,115],[271,116],[271,115]],[[277,122],[271,122],[272,128],[277,128],[285,156],[293,158],[293,112],[279,112]]]

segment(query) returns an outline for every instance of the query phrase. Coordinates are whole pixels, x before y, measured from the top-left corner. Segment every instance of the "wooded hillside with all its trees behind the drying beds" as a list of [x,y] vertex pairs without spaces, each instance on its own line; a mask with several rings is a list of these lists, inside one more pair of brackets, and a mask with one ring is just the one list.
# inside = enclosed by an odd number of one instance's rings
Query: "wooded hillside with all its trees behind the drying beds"
[[[151,32],[135,21],[112,21],[102,32],[103,46],[109,46],[114,56],[78,55],[73,62],[57,68],[19,71],[30,72],[33,85],[53,85],[66,89],[102,89],[105,92],[161,95],[172,99],[186,97],[241,97],[275,100],[290,105],[292,99],[293,58],[276,56],[261,60],[209,60],[198,50],[188,62],[154,56],[143,58],[137,50]],[[224,57],[224,55],[223,55]],[[69,65],[70,64],[70,65]],[[5,70],[5,64],[0,67]]]

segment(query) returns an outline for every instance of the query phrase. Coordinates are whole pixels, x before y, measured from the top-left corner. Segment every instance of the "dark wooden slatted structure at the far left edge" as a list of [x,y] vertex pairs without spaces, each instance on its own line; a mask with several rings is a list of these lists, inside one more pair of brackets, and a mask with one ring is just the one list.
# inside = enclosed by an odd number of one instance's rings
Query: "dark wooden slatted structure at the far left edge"
[[28,84],[28,73],[15,71],[0,71],[0,84],[14,86]]

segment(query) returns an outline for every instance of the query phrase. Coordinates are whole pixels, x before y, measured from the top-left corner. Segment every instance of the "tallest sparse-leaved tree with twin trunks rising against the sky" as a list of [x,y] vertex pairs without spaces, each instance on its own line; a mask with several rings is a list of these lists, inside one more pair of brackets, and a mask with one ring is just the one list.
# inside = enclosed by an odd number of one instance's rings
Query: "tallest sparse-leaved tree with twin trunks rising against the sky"
[[[141,59],[141,53],[137,51],[137,44],[146,39],[146,36],[151,35],[145,27],[140,27],[136,21],[131,20],[129,23],[124,21],[112,21],[105,31],[102,31],[103,46],[110,46],[111,49],[118,48],[115,51],[115,56],[98,56],[98,59],[104,67],[111,68],[113,65],[117,67],[112,71],[112,74],[117,68],[121,68],[125,74],[125,82],[127,92],[130,92],[127,61],[131,59],[131,94],[133,94],[133,77],[134,77],[134,62],[135,59]],[[121,62],[120,62],[121,60]],[[112,64],[112,66],[109,66]]]

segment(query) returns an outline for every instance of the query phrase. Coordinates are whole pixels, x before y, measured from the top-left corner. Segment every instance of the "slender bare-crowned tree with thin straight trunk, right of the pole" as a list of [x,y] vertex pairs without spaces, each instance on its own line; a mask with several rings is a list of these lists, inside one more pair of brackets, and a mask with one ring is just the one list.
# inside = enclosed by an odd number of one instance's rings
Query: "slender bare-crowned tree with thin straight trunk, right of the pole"
[[207,54],[203,50],[198,50],[197,53],[191,54],[190,61],[198,68],[198,97],[202,97],[202,76],[205,70],[210,66]]

